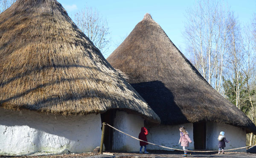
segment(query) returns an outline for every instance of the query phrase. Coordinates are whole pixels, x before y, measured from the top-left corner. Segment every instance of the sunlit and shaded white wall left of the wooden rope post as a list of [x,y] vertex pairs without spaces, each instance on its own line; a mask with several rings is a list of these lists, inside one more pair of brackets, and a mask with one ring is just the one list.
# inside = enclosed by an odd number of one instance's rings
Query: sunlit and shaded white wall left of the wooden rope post
[[62,116],[0,108],[0,154],[92,152],[100,146],[100,115]]

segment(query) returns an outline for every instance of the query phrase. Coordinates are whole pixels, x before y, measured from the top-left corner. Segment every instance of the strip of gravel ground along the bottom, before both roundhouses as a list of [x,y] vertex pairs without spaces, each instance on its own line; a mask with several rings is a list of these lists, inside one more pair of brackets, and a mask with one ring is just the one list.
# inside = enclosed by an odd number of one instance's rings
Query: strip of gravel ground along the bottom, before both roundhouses
[[[183,152],[169,152],[169,151],[148,151],[148,154],[139,154],[138,152],[103,152],[102,155],[93,155],[92,153],[66,153],[60,155],[42,155],[43,153],[36,153],[29,156],[3,156],[3,158],[181,158]],[[187,157],[191,158],[256,158],[256,154],[246,152],[225,152],[225,154],[218,153],[204,153],[204,152],[189,152]]]

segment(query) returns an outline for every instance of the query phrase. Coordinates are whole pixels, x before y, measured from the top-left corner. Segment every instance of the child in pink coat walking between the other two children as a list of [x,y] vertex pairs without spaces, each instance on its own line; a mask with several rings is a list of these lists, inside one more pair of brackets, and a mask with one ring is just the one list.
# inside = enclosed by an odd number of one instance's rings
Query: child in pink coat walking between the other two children
[[[189,138],[189,133],[186,131],[184,126],[180,126],[180,141],[179,144],[181,143],[180,146],[183,147],[183,150],[187,150],[186,147],[189,147],[189,143],[192,143],[191,139]],[[187,151],[184,151],[183,157],[187,156]]]

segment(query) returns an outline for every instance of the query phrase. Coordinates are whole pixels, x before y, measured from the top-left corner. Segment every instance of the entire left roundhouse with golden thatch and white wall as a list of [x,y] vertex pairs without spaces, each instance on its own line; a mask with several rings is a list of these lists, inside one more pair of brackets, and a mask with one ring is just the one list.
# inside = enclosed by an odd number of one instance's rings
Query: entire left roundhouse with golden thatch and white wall
[[[144,120],[160,123],[56,0],[17,0],[0,14],[0,154],[90,152],[103,121],[137,135]],[[139,147],[107,134],[106,149]]]

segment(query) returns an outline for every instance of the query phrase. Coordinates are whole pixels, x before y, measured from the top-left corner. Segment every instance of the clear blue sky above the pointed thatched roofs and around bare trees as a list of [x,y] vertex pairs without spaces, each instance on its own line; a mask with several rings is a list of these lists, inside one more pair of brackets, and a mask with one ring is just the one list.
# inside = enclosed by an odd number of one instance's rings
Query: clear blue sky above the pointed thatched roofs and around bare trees
[[[107,58],[130,34],[145,13],[151,14],[172,42],[185,49],[183,31],[186,10],[193,8],[197,0],[58,0],[73,18],[76,11],[85,7],[96,9],[108,21],[110,29],[110,49]],[[256,13],[256,0],[221,0],[239,18],[241,26],[251,22]]]

